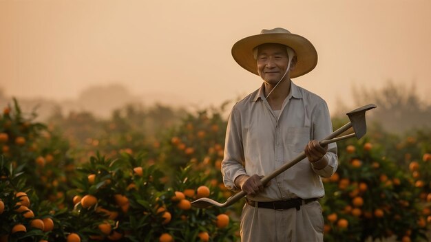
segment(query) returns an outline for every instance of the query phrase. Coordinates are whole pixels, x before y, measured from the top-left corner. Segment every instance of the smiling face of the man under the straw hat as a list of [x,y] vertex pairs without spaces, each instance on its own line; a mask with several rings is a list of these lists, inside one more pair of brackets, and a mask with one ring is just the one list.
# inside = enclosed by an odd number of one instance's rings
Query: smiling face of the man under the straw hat
[[[288,56],[286,46],[273,43],[260,45],[256,61],[259,76],[266,83],[275,85],[283,77],[287,69]],[[288,75],[286,77],[288,78]]]

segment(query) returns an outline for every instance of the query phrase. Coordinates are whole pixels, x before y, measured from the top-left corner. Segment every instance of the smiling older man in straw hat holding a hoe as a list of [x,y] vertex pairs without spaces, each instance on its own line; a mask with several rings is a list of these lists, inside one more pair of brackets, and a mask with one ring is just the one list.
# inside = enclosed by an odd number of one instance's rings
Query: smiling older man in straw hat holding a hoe
[[[275,28],[238,41],[232,55],[264,81],[234,105],[224,147],[224,185],[246,192],[242,241],[323,241],[317,199],[324,196],[321,177],[337,170],[337,146],[317,142],[333,131],[326,102],[291,81],[314,69],[315,47]],[[262,176],[302,151],[306,159],[262,186]]]

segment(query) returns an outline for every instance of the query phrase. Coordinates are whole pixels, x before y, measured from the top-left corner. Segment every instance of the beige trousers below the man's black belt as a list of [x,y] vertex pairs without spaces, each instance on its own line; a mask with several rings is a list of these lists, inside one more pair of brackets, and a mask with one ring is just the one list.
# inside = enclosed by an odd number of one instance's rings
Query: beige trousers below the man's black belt
[[273,210],[244,205],[242,242],[322,242],[324,218],[319,201],[302,203],[301,209]]

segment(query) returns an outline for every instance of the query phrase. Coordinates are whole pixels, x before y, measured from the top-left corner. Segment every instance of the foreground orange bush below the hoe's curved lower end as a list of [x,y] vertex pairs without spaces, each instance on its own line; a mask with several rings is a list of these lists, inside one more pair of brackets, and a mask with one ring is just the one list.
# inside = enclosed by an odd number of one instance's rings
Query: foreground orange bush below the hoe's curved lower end
[[[211,241],[235,240],[236,223],[218,221],[224,210],[191,207],[191,201],[202,195],[199,187],[205,177],[191,173],[190,167],[167,179],[160,168],[147,164],[145,156],[124,153],[118,159],[92,157],[79,171],[77,189],[68,195],[77,197],[74,213],[79,219],[67,225],[68,232],[73,229],[93,240],[114,234],[123,241],[196,241],[206,235]],[[203,195],[218,199],[215,192]],[[101,224],[110,229],[103,231]]]

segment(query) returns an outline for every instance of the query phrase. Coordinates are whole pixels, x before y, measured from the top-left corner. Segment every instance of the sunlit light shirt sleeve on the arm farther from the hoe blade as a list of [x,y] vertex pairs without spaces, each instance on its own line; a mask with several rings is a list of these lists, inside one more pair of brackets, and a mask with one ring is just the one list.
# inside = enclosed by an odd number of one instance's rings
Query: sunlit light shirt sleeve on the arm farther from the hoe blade
[[244,149],[242,144],[241,115],[236,105],[232,108],[227,123],[224,144],[224,158],[222,161],[222,176],[224,186],[230,190],[240,190],[235,186],[235,178],[246,175],[244,168]]

